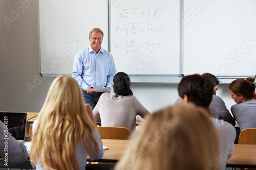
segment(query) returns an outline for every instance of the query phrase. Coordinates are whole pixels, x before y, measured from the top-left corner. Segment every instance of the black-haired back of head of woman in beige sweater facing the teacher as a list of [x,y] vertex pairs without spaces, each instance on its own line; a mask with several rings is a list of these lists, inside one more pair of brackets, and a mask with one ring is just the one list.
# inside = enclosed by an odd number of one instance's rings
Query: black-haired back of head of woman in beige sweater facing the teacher
[[133,95],[130,89],[131,79],[125,72],[118,72],[113,79],[114,92],[118,95]]

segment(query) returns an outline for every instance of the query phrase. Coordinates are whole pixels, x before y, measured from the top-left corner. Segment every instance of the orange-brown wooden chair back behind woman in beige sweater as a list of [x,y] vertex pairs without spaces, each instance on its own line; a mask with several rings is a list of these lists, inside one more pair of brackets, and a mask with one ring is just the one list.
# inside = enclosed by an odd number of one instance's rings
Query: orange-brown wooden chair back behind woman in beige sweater
[[129,139],[132,133],[123,127],[97,127],[101,139]]

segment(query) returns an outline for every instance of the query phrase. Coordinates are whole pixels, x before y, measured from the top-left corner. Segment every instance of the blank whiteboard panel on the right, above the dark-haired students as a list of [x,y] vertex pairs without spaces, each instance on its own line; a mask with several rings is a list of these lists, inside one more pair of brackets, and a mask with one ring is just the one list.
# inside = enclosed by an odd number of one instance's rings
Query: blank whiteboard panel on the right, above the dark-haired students
[[184,1],[184,75],[255,76],[256,1]]

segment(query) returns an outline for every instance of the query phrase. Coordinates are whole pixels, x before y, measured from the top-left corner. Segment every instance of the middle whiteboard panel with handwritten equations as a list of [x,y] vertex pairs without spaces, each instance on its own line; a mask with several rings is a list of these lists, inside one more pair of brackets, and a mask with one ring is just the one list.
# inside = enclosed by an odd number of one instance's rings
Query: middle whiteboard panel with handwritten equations
[[111,0],[110,40],[117,72],[180,74],[180,1]]

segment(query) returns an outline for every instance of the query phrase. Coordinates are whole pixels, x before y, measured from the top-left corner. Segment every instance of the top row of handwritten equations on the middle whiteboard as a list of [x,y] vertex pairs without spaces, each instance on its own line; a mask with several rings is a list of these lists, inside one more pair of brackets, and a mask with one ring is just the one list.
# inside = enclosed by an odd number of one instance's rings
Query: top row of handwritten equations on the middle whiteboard
[[158,18],[161,17],[162,11],[164,8],[153,8],[148,9],[146,11],[143,11],[139,8],[130,8],[130,9],[122,9],[120,13],[116,14],[117,18],[130,18],[130,17],[137,17],[140,16],[142,18],[148,17],[148,18]]

